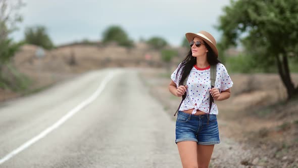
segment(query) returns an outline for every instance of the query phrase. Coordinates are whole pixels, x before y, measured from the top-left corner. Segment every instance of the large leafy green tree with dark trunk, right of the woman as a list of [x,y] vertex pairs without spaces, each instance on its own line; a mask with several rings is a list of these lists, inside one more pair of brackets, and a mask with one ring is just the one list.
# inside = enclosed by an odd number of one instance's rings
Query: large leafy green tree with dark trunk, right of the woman
[[223,31],[221,43],[226,48],[241,41],[258,65],[275,65],[288,99],[298,94],[288,65],[289,56],[297,57],[298,52],[298,1],[231,1],[218,29]]

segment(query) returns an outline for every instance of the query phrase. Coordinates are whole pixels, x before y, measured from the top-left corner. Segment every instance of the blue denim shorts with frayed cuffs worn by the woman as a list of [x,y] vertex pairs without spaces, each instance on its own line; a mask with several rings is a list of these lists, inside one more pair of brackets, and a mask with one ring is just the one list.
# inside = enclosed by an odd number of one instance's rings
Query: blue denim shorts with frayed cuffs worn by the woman
[[176,120],[176,143],[195,141],[198,145],[219,144],[219,131],[216,114],[192,115],[178,111]]

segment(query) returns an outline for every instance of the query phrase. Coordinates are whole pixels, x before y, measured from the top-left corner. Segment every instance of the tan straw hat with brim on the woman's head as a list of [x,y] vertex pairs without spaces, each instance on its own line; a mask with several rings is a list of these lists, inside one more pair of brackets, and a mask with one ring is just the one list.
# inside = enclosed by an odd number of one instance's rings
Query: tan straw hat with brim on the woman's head
[[189,43],[190,43],[190,41],[193,40],[194,37],[202,38],[211,47],[211,49],[213,50],[215,55],[218,57],[218,50],[216,48],[216,40],[209,32],[201,30],[200,32],[198,32],[196,34],[195,33],[186,33],[185,36]]

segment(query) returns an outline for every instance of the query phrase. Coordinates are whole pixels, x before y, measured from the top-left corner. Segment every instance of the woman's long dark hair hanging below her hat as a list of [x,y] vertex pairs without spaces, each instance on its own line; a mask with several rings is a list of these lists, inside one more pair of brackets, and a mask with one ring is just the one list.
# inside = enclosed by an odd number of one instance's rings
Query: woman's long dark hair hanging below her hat
[[[211,47],[205,41],[204,41],[204,44],[205,44],[205,46],[208,50],[208,52],[207,52],[207,62],[210,65],[216,65],[218,63],[221,63],[218,60],[218,58],[216,57],[216,55],[213,52],[213,50],[211,49]],[[179,80],[179,85],[183,85],[183,81],[185,80],[187,75],[190,73],[190,70],[192,69],[192,67],[195,64],[196,64],[196,58],[192,57],[192,52],[191,52],[191,48],[190,48],[188,54],[183,59],[183,61],[181,62],[181,65],[178,67],[178,70],[177,70],[176,79],[177,79],[179,70],[182,68],[182,70],[181,70],[182,75],[181,75],[181,79]]]

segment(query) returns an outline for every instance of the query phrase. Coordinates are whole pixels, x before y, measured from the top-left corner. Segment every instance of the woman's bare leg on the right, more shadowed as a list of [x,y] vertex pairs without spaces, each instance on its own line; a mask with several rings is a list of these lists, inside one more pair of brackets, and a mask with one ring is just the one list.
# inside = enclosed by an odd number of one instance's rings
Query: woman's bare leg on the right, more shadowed
[[198,168],[208,168],[214,145],[197,145],[196,148]]

